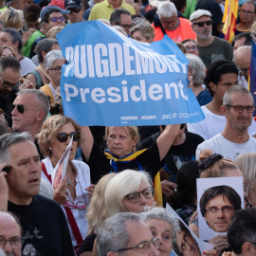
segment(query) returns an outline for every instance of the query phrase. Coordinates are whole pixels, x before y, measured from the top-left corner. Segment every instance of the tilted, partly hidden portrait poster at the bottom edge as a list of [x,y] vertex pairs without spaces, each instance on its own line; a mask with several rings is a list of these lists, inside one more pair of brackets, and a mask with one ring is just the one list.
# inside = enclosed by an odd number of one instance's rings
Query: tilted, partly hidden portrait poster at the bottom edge
[[176,255],[201,256],[204,251],[213,248],[213,244],[198,238],[169,204],[166,204],[166,210],[179,222],[180,231],[176,233],[176,246],[173,247]]

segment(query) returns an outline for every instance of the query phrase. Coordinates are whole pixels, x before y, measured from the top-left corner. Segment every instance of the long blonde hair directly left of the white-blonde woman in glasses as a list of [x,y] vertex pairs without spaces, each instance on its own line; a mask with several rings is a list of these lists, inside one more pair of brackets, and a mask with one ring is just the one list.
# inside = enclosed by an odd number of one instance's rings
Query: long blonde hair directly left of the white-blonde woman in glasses
[[92,231],[97,232],[98,227],[102,225],[104,220],[110,217],[109,210],[107,210],[105,205],[104,193],[107,184],[115,175],[113,173],[102,176],[95,187],[86,215],[89,224],[88,234]]

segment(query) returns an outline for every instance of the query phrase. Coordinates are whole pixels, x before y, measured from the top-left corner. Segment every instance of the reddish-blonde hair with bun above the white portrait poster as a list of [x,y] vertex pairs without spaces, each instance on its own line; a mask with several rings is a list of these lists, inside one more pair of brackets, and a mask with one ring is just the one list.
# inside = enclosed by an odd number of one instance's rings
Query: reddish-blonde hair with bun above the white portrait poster
[[[200,153],[199,162],[207,159],[212,155],[211,150],[204,150]],[[234,161],[228,158],[222,158],[213,162],[208,168],[201,171],[200,178],[206,177],[221,177],[224,174],[225,169],[239,170]]]

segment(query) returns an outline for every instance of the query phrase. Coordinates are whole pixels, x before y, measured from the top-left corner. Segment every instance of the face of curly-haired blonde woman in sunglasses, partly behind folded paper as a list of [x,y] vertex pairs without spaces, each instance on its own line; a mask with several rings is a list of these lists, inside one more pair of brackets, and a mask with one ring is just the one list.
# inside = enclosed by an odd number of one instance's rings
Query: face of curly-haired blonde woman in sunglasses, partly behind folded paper
[[[58,131],[58,133],[66,133],[66,134],[70,134],[72,132],[76,132],[76,129],[71,122],[65,123],[64,126]],[[50,159],[52,163],[56,164],[61,159],[62,155],[64,155],[64,151],[66,147],[70,142],[70,139],[71,137],[68,137],[65,142],[60,142],[57,139],[57,137],[53,139],[53,141],[50,144],[50,148],[51,148]],[[69,160],[73,160],[75,158],[77,147],[78,147],[78,141],[73,140],[70,155],[69,155]]]

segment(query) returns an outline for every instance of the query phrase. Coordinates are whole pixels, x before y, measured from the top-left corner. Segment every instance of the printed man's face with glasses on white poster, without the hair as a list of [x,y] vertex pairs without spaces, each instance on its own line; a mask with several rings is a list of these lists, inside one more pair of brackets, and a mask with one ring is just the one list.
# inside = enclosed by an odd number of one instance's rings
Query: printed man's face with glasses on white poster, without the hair
[[234,206],[226,195],[217,195],[206,206],[205,221],[216,232],[227,232],[234,216]]

